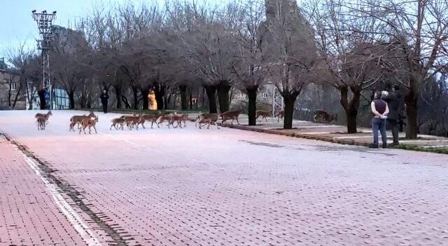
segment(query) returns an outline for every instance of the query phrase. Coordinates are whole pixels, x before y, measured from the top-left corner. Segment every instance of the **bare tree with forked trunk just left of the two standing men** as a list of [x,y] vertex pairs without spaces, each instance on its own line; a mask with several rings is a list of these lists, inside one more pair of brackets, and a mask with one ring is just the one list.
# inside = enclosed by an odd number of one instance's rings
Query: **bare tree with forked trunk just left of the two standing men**
[[377,63],[387,43],[377,42],[384,39],[385,35],[377,34],[384,25],[365,15],[353,19],[345,5],[340,0],[310,1],[304,6],[304,13],[314,27],[320,59],[311,69],[314,81],[327,83],[339,91],[347,132],[355,133],[363,92],[383,77]]

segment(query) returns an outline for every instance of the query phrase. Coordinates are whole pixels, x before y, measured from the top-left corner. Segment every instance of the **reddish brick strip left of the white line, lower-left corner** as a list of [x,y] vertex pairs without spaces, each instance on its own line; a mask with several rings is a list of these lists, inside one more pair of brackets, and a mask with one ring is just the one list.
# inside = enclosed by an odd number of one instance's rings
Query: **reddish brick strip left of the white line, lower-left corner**
[[25,156],[0,135],[0,245],[85,245]]

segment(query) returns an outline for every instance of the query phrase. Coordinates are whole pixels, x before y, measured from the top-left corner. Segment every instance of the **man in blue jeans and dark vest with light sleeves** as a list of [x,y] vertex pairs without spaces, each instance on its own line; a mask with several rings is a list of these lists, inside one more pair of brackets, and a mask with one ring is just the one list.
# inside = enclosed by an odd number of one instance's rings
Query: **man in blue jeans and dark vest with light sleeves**
[[373,144],[371,148],[378,148],[378,130],[381,132],[381,139],[383,142],[383,148],[387,148],[387,136],[386,136],[386,118],[389,113],[387,107],[387,102],[381,100],[381,92],[377,91],[374,95],[374,100],[370,104],[372,108],[372,133],[373,133]]

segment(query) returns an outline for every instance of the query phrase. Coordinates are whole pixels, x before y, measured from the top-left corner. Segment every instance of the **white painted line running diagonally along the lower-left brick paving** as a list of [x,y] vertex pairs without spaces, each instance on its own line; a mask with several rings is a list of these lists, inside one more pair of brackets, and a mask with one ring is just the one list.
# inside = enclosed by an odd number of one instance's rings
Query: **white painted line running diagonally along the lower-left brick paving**
[[42,180],[43,184],[45,184],[45,188],[48,189],[48,191],[50,191],[50,194],[59,210],[62,212],[62,214],[65,215],[65,217],[68,219],[68,221],[76,230],[76,232],[78,232],[80,237],[83,238],[84,242],[86,242],[87,245],[92,246],[102,245],[97,239],[97,237],[90,231],[89,226],[87,226],[87,224],[84,223],[83,219],[81,219],[80,216],[76,213],[76,211],[73,210],[73,207],[71,207],[71,205],[67,203],[67,201],[62,196],[61,191],[59,191],[57,186],[55,184],[52,184],[52,182],[50,182],[50,179],[42,175],[43,170],[41,170],[41,168],[39,168],[38,165],[36,165],[36,163],[34,163],[34,161],[31,160],[31,158],[25,155],[25,153],[20,151],[20,149],[18,149],[17,146],[15,146],[14,144],[10,145],[13,146],[13,148],[17,149],[22,154],[23,158],[25,158],[25,161],[29,165],[29,168],[34,170],[37,177],[39,177],[39,179]]

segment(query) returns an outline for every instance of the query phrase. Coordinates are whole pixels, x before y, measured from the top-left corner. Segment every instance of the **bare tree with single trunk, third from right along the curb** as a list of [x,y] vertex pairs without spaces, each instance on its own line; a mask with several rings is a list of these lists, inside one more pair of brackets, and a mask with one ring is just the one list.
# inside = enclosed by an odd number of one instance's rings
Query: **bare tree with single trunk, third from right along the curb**
[[269,61],[271,82],[285,102],[283,128],[293,127],[297,96],[311,81],[309,69],[316,60],[311,27],[292,0],[265,1],[266,22],[261,36],[263,56]]

